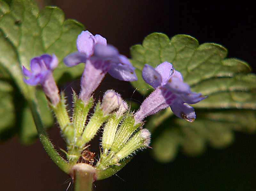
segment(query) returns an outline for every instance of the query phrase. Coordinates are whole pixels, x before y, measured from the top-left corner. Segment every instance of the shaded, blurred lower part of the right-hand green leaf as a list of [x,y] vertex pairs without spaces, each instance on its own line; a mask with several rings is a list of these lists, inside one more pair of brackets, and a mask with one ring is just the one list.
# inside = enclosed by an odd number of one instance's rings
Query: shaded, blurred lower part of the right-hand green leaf
[[[246,113],[246,115],[244,115]],[[253,133],[256,129],[256,115],[253,110],[197,110],[196,121],[188,123],[176,116],[160,126],[159,136],[152,143],[153,156],[160,162],[173,160],[179,148],[188,156],[202,154],[206,145],[221,149],[234,141],[234,131]]]

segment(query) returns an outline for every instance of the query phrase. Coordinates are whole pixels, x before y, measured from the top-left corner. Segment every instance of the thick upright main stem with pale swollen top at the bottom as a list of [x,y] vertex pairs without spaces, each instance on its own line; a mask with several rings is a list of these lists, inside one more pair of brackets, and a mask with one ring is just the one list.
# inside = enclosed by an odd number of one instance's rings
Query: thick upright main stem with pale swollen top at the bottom
[[92,191],[93,182],[97,180],[97,170],[85,163],[73,165],[69,175],[74,180],[75,191]]

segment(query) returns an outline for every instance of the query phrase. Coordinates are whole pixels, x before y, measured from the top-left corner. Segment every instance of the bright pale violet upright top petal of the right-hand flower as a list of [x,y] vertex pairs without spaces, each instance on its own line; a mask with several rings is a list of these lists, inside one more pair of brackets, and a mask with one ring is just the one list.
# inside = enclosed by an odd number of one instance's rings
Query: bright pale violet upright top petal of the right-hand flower
[[173,74],[173,67],[170,62],[163,62],[155,69],[162,77],[162,85],[164,85]]

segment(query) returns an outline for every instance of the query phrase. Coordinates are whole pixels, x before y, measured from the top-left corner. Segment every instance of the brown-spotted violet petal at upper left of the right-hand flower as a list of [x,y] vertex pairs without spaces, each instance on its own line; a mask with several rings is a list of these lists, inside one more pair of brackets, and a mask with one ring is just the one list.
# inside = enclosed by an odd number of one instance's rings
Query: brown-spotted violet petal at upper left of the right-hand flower
[[145,64],[142,70],[142,78],[153,88],[157,88],[162,83],[162,77],[152,66]]

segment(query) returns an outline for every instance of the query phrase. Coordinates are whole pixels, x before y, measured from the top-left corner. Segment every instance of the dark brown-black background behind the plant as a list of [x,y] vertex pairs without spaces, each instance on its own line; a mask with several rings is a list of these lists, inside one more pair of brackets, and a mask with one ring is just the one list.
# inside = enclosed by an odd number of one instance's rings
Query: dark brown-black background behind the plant
[[[66,18],[80,21],[92,34],[106,37],[128,57],[129,47],[149,33],[163,32],[169,37],[183,33],[199,43],[225,46],[228,57],[240,58],[256,70],[255,4],[154,0],[56,0],[49,4],[59,6]],[[57,147],[63,148],[58,129],[48,132]],[[0,151],[0,190],[68,187],[63,184],[68,175],[50,160],[39,141],[26,147],[15,137],[1,144]],[[118,176],[95,182],[95,190],[256,190],[255,154],[256,136],[243,133],[236,133],[235,143],[227,149],[208,148],[197,158],[179,153],[170,164],[154,161],[148,149],[139,152]]]

